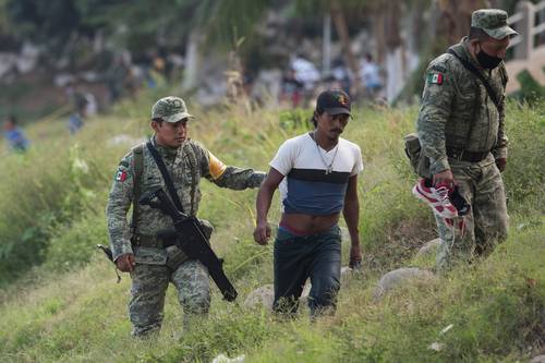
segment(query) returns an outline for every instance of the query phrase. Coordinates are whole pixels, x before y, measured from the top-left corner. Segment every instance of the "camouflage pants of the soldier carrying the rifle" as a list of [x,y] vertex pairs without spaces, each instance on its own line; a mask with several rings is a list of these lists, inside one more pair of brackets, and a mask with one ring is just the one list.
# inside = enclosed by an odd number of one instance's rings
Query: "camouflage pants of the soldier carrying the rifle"
[[174,271],[165,265],[136,264],[131,278],[129,316],[133,325],[133,336],[144,336],[160,329],[169,282],[178,290],[178,300],[184,310],[185,327],[192,316],[208,313],[208,270],[198,261],[190,259]]

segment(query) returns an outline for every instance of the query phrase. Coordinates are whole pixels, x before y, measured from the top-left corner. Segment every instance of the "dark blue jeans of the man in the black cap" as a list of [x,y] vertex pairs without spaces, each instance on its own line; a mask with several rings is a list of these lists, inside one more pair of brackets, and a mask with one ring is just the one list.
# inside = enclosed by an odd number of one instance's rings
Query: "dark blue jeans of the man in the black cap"
[[275,240],[274,310],[294,314],[304,283],[311,278],[311,315],[326,307],[335,312],[340,268],[341,232],[337,225],[311,235],[296,235],[280,227]]

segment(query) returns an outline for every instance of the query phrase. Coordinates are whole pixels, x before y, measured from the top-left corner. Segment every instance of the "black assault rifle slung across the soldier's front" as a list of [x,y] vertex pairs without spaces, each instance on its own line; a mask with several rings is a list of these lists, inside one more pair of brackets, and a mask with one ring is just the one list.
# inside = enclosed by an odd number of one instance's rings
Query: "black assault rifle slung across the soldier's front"
[[178,237],[174,239],[174,244],[180,247],[187,257],[198,259],[205,265],[208,268],[211,279],[223,294],[223,299],[227,301],[234,301],[238,292],[223,273],[221,261],[211,250],[197,219],[180,211],[160,186],[144,194],[140,198],[140,204],[159,209],[172,218]]

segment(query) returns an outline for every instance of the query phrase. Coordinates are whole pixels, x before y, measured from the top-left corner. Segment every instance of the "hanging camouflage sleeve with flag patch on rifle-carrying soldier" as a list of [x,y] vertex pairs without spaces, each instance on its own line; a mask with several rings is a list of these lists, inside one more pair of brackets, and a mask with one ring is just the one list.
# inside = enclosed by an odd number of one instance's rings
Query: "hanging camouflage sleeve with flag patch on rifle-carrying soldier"
[[106,218],[108,220],[108,233],[113,254],[113,261],[125,253],[133,253],[130,241],[130,229],[126,221],[126,213],[133,199],[133,167],[132,153],[125,156],[119,164],[113,178]]

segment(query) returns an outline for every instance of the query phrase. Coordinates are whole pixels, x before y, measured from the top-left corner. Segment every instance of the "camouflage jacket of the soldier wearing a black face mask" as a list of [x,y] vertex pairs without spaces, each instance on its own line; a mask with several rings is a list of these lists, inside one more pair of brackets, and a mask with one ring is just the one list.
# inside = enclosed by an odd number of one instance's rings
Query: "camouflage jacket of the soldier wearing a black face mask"
[[[481,69],[468,46],[465,37],[450,49]],[[504,62],[482,73],[505,106],[507,71]],[[475,153],[491,150],[494,158],[507,157],[504,119],[505,112],[498,111],[481,81],[453,55],[441,55],[429,63],[417,130],[432,174],[450,169],[446,146]],[[482,162],[493,162],[494,158],[488,156]]]

